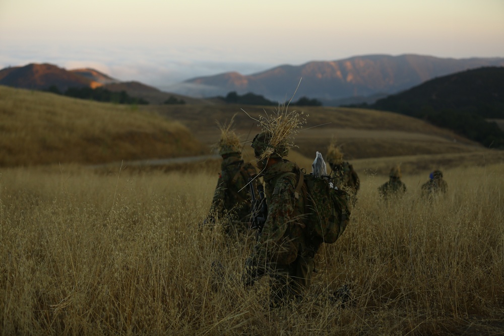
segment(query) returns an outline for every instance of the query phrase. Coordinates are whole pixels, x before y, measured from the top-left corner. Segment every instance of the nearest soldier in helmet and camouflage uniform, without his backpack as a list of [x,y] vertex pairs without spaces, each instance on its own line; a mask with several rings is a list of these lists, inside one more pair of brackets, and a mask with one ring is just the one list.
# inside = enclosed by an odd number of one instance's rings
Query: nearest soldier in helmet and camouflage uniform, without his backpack
[[[268,217],[257,245],[245,262],[244,282],[253,284],[267,275],[271,280],[273,306],[300,297],[311,284],[314,256],[321,242],[308,237],[303,223],[304,200],[296,192],[299,167],[282,159],[289,151],[285,141],[271,144],[269,132],[252,142],[264,182]],[[265,156],[267,149],[270,149]]]

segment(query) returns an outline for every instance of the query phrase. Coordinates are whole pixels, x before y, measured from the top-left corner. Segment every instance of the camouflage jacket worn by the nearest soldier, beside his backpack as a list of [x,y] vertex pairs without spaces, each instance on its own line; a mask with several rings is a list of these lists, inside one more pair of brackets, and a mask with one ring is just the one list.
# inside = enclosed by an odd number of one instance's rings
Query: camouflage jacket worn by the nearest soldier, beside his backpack
[[298,179],[299,167],[288,160],[264,173],[268,217],[255,249],[259,262],[266,258],[289,264],[310,244],[303,224],[304,201],[296,192]]

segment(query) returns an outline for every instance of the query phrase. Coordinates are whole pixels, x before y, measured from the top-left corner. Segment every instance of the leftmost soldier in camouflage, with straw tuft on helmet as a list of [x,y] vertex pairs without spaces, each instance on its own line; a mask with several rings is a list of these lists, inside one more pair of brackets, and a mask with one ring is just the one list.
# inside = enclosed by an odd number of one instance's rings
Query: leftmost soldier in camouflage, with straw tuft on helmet
[[[205,224],[220,221],[229,235],[241,235],[250,229],[250,177],[257,175],[257,169],[251,163],[245,163],[241,157],[240,141],[230,125],[221,127],[222,135],[218,144],[222,156],[221,171],[212,199],[212,206]],[[260,183],[254,180],[254,185]]]

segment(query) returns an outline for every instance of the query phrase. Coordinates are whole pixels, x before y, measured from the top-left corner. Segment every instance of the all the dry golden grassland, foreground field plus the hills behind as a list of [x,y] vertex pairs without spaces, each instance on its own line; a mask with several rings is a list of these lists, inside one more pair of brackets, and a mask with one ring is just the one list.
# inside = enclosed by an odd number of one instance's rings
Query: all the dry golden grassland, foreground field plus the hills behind
[[[276,309],[267,279],[241,283],[250,244],[219,223],[199,227],[220,160],[89,166],[208,154],[216,120],[234,113],[250,140],[257,129],[237,106],[131,107],[0,87],[0,334],[504,334],[503,152],[393,113],[305,110],[288,159],[309,172],[337,137],[361,189],[306,297]],[[377,187],[396,164],[407,192],[387,204]],[[419,190],[437,168],[449,189],[429,202]],[[342,285],[344,306],[329,299]]]

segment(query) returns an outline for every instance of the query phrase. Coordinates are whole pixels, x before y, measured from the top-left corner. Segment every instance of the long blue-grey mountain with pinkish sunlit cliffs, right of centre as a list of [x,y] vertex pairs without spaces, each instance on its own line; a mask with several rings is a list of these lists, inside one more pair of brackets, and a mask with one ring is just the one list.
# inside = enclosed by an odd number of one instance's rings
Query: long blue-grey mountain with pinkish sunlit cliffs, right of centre
[[[504,66],[504,58],[438,58],[423,55],[365,55],[335,61],[281,65],[248,76],[236,72],[199,77],[183,83],[179,93],[203,96],[253,92],[283,102],[296,96],[331,101],[389,95],[432,78],[482,66]],[[329,105],[328,104],[328,105]]]

